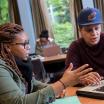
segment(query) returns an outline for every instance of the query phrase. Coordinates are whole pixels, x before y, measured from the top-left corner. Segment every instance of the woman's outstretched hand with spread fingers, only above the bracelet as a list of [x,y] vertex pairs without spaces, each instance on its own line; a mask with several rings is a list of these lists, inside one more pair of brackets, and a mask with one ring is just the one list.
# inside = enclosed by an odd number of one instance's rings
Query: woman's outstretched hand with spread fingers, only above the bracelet
[[92,68],[88,68],[88,66],[88,64],[84,64],[81,67],[72,70],[73,64],[71,63],[60,80],[65,84],[66,87],[75,85],[79,83],[80,77],[88,74],[88,72],[93,70]]

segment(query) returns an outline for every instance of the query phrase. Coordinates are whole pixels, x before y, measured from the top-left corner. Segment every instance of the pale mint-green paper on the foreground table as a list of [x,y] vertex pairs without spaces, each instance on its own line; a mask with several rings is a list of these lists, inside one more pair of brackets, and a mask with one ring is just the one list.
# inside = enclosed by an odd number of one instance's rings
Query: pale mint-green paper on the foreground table
[[56,99],[55,102],[50,104],[81,104],[77,96],[64,97]]

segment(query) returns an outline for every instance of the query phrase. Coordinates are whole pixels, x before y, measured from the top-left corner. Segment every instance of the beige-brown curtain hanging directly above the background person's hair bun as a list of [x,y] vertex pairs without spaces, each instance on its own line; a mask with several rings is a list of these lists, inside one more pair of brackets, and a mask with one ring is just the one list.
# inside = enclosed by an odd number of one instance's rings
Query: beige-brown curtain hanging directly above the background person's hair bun
[[31,10],[37,37],[39,37],[42,30],[48,30],[49,35],[53,37],[52,26],[45,0],[31,0]]

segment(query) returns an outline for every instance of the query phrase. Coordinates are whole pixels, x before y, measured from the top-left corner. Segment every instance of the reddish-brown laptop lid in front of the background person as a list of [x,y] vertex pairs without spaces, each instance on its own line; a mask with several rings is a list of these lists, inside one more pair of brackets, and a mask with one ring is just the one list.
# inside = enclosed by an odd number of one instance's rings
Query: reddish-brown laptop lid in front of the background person
[[43,48],[44,57],[56,56],[58,54],[61,54],[61,48],[58,45]]

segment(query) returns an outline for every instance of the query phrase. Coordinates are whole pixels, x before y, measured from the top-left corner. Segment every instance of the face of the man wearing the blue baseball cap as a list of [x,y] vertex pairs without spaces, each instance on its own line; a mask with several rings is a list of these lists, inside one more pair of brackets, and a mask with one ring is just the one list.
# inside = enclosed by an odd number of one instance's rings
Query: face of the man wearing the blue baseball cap
[[80,33],[89,46],[96,45],[100,41],[101,25],[96,24],[84,26],[80,29]]

